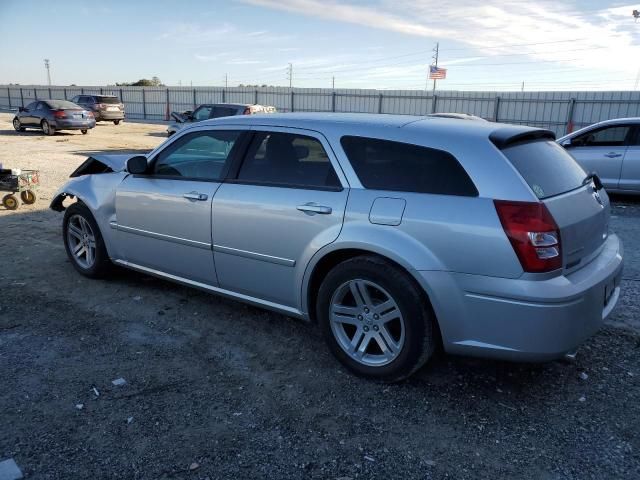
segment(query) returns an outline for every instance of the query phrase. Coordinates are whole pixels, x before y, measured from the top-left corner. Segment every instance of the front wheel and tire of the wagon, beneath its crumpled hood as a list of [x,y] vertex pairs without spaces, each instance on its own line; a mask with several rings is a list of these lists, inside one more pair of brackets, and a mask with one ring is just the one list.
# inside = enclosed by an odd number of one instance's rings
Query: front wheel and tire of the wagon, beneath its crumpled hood
[[111,272],[100,228],[85,204],[77,202],[66,209],[62,239],[69,261],[82,275],[104,278]]

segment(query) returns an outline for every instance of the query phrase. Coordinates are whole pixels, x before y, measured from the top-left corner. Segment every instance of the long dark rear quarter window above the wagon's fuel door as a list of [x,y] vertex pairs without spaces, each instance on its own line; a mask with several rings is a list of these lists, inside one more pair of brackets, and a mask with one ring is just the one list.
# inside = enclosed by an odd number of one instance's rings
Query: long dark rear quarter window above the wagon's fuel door
[[375,190],[474,197],[478,190],[448,152],[365,137],[340,140],[362,185]]

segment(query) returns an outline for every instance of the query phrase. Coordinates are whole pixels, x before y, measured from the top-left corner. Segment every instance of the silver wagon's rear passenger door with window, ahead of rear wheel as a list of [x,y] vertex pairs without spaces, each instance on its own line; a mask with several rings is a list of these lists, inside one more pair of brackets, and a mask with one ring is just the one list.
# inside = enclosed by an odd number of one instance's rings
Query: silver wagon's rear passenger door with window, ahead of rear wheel
[[213,200],[220,287],[299,308],[309,259],[340,233],[346,180],[324,137],[305,130],[254,127],[237,170]]

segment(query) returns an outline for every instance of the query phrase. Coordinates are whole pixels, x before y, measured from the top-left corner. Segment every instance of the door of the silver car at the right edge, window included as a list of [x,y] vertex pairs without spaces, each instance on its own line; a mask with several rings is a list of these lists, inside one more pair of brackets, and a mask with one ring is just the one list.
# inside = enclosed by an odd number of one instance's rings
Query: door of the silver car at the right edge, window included
[[586,172],[597,173],[606,188],[615,190],[632,133],[631,125],[596,128],[574,137],[567,151]]

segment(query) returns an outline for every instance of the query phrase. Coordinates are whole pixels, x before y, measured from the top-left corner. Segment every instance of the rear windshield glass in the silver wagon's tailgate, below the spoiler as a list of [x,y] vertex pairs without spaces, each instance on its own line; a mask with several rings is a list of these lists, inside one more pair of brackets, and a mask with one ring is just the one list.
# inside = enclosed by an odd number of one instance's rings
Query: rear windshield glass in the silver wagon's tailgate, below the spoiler
[[582,185],[585,171],[556,142],[527,142],[502,153],[540,199],[574,190]]

